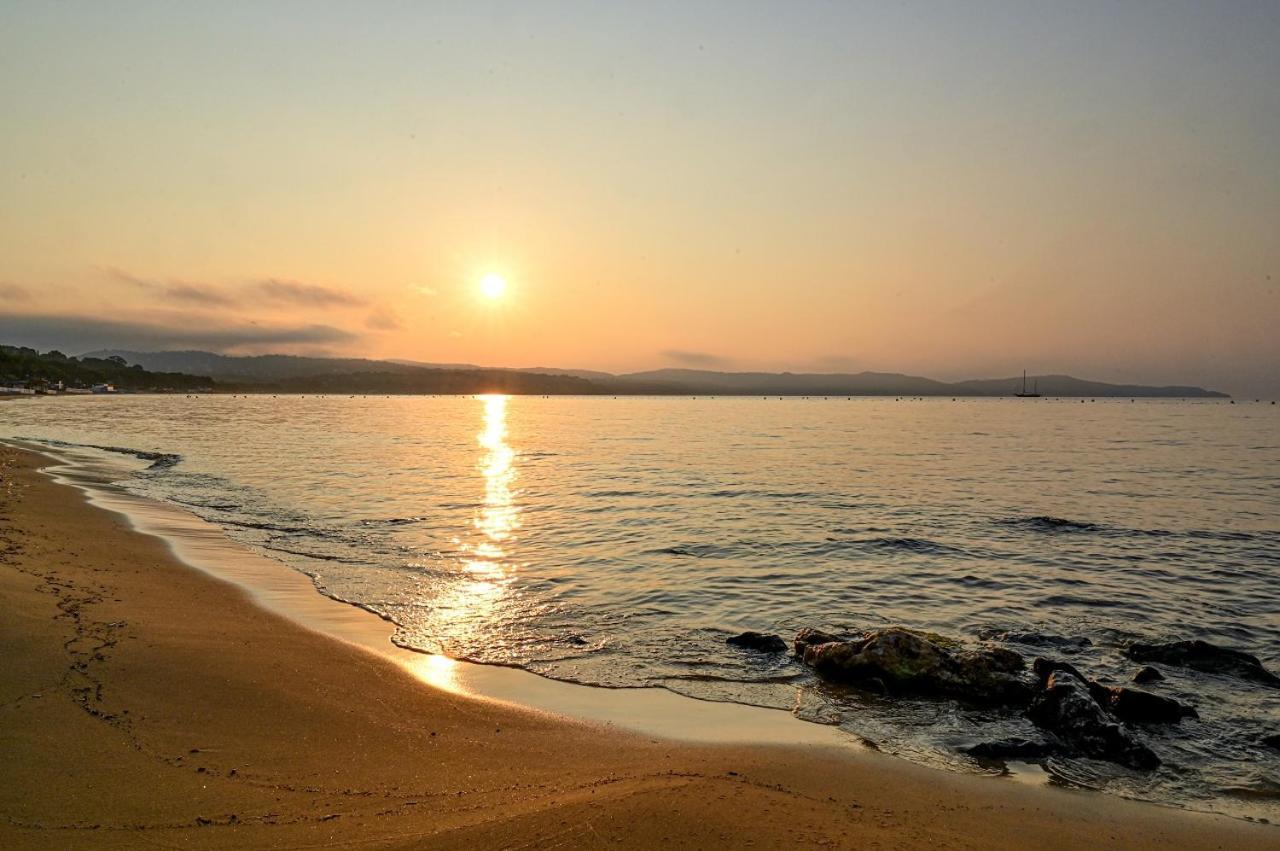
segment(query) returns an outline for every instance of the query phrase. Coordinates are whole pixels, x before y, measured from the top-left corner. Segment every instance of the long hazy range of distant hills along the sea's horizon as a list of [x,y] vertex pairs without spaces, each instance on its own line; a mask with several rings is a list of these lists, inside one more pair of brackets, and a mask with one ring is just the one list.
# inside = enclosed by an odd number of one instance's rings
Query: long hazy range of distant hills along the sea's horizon
[[[536,366],[481,367],[474,363],[374,361],[366,358],[212,352],[101,351],[86,357],[120,357],[146,370],[211,375],[239,392],[283,393],[536,393],[698,395],[1012,395],[1021,376],[936,381],[897,372],[717,372],[650,370],[613,375],[596,370]],[[1143,386],[1087,381],[1069,375],[1028,376],[1043,395],[1225,398],[1197,386]]]

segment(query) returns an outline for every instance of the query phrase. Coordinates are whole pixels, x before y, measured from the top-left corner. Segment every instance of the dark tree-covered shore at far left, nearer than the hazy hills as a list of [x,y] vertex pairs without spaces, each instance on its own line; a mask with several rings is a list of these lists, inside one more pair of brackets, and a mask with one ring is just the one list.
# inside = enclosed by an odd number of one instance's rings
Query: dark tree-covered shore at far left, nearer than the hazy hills
[[206,375],[152,372],[123,358],[68,357],[58,351],[37,352],[22,346],[0,346],[0,385],[36,386],[64,383],[70,388],[114,384],[120,390],[197,390],[214,383]]

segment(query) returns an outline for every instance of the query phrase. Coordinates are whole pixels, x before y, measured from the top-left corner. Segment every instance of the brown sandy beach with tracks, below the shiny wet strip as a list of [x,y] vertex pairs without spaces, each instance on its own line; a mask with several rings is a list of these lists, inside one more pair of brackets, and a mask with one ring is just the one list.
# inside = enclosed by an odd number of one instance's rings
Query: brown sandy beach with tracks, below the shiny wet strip
[[0,847],[1276,847],[1280,829],[431,688],[0,450]]

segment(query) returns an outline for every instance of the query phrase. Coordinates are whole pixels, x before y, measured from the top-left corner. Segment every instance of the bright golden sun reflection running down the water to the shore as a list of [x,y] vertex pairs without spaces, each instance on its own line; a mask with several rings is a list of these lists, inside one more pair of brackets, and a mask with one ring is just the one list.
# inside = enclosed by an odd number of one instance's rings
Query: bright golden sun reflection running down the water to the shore
[[[512,484],[516,479],[516,450],[507,443],[506,395],[483,395],[484,427],[476,441],[484,449],[479,470],[484,480],[484,502],[474,526],[475,541],[456,539],[468,580],[435,600],[439,617],[454,623],[484,623],[507,594],[515,580],[515,564],[507,561],[506,543],[520,529],[520,508]],[[417,665],[419,676],[442,688],[456,688],[457,663],[444,655],[428,656]]]

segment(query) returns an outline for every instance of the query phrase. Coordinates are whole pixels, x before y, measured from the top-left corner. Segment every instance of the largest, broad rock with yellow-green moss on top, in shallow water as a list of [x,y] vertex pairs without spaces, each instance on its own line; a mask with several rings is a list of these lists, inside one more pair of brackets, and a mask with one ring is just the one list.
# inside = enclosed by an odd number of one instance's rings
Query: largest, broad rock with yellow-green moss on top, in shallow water
[[797,636],[796,649],[819,677],[838,682],[879,680],[891,691],[975,703],[1030,699],[1030,687],[1015,676],[1024,667],[1021,656],[1002,648],[952,653],[932,636],[890,627],[849,641],[812,644]]

